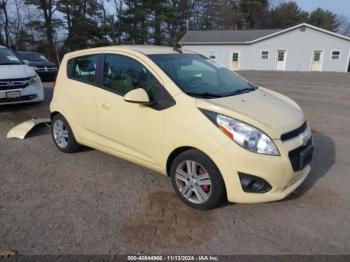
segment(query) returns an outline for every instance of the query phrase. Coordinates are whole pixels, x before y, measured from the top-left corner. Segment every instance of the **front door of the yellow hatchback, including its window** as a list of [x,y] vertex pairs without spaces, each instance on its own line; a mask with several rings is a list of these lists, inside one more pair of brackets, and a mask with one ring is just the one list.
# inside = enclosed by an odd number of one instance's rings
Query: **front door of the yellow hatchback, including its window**
[[158,95],[157,79],[138,61],[106,55],[103,86],[98,97],[102,144],[126,157],[159,166],[162,153],[163,111],[124,101],[124,95],[144,88]]

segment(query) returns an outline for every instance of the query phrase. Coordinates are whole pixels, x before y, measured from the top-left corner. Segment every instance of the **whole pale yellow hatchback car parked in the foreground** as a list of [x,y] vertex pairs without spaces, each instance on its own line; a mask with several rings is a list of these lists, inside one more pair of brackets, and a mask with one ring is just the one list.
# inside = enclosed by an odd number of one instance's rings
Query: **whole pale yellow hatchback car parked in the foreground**
[[50,109],[59,150],[85,145],[170,176],[198,209],[279,200],[310,172],[313,142],[300,107],[191,51],[69,53]]

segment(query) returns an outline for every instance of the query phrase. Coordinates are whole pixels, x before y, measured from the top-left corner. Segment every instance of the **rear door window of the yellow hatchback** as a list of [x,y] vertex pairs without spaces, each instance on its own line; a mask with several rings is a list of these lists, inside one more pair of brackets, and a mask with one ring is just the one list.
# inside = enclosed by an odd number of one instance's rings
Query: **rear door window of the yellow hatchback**
[[95,83],[98,55],[81,56],[70,59],[67,65],[69,78],[87,83]]

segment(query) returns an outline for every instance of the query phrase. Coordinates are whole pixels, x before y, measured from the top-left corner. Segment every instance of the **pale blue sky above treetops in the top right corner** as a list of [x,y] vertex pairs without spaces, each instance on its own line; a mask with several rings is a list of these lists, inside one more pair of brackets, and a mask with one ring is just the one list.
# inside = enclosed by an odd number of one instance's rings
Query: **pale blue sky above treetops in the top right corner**
[[294,0],[305,11],[313,11],[318,7],[328,9],[350,20],[350,0]]

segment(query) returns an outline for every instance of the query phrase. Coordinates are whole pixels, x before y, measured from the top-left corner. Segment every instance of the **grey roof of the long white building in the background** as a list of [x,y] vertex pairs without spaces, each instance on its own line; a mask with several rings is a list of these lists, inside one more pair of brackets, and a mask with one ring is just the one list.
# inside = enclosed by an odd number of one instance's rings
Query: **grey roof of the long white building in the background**
[[275,37],[301,27],[308,27],[325,34],[350,41],[350,37],[302,23],[287,29],[188,31],[180,40],[180,44],[253,44],[255,42]]

